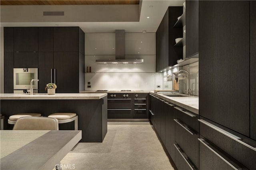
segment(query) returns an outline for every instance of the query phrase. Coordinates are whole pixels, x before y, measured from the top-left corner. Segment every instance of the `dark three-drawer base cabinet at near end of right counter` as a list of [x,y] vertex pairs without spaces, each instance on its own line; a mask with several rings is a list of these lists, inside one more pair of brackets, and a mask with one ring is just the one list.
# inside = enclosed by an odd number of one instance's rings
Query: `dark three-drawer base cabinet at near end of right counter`
[[[179,170],[186,169],[187,166],[191,169],[199,168],[199,123],[198,115],[186,111],[181,107],[175,109],[175,160]],[[183,159],[180,159],[183,156]],[[184,165],[186,164],[186,165]]]

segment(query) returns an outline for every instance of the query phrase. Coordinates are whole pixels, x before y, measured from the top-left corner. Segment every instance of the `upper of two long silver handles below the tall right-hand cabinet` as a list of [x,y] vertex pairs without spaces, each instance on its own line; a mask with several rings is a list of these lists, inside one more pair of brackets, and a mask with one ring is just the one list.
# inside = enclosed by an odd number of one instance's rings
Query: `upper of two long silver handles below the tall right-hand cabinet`
[[241,143],[242,145],[256,151],[256,148],[255,147],[252,147],[251,145],[248,145],[247,143],[244,143],[243,141],[241,141],[242,139],[232,133],[229,133],[228,131],[225,131],[224,129],[221,129],[220,127],[216,126],[216,125],[213,125],[212,123],[209,123],[207,121],[205,121],[204,119],[198,119],[198,121],[200,121],[201,123],[205,124],[206,126],[222,133],[223,135],[233,139],[234,141],[237,141],[239,143]]

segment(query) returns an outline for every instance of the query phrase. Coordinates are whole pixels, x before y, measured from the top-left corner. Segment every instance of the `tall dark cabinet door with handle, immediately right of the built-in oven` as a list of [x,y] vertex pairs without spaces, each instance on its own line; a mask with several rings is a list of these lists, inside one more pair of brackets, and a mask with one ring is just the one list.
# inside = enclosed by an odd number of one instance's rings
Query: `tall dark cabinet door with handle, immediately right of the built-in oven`
[[38,90],[46,93],[46,84],[52,82],[53,52],[38,52]]

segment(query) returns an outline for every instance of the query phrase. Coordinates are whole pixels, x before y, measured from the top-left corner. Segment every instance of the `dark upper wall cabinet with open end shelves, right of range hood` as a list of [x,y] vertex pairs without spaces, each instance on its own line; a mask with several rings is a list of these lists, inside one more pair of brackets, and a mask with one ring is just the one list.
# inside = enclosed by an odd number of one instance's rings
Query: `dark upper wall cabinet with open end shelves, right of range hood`
[[181,6],[168,7],[156,31],[156,72],[173,66],[183,55],[182,47],[174,47],[175,39],[183,37],[182,28],[173,27],[182,15]]

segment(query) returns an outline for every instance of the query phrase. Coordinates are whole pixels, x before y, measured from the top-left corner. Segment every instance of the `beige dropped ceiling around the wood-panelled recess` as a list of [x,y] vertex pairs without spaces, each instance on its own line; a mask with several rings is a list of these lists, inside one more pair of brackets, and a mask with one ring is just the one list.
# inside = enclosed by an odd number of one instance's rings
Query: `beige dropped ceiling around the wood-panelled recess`
[[[1,5],[0,26],[79,26],[86,33],[108,33],[116,29],[156,32],[168,6],[182,6],[183,2],[143,0],[139,5]],[[64,11],[65,16],[45,17],[43,11]]]

